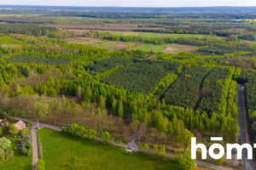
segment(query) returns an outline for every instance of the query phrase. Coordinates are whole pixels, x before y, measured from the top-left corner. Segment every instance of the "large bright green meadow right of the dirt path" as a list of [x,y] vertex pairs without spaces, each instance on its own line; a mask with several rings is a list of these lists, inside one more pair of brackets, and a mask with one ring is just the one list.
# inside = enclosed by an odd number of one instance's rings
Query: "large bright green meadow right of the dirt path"
[[125,150],[88,139],[79,139],[43,128],[38,130],[43,143],[46,169],[86,170],[181,170],[175,161],[166,161],[143,153]]

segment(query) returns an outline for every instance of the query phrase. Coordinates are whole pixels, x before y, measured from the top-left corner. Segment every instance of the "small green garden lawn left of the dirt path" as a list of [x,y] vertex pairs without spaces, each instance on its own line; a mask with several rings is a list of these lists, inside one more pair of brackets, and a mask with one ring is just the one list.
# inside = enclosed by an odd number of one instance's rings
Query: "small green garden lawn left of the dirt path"
[[[17,140],[12,141],[12,147],[15,148]],[[11,157],[8,161],[4,161],[3,164],[0,164],[0,169],[4,170],[29,170],[32,169],[32,157],[23,156],[20,150],[15,150],[15,155]]]

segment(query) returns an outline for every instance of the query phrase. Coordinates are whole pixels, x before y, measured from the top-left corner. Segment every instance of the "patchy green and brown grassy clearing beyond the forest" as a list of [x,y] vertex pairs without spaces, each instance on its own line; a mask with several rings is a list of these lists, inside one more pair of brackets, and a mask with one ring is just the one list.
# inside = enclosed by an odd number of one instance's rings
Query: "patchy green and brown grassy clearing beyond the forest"
[[[191,51],[194,49],[193,46],[189,45],[179,45],[179,44],[166,44],[166,45],[154,45],[148,43],[140,43],[137,42],[115,42],[97,38],[86,38],[86,37],[73,37],[67,38],[67,42],[72,43],[81,43],[86,45],[95,46],[98,48],[106,48],[111,51],[117,51],[120,48],[128,48],[128,49],[140,49],[146,52],[153,51],[154,53],[165,52],[166,54],[177,54],[182,51]],[[171,50],[170,50],[171,49]]]

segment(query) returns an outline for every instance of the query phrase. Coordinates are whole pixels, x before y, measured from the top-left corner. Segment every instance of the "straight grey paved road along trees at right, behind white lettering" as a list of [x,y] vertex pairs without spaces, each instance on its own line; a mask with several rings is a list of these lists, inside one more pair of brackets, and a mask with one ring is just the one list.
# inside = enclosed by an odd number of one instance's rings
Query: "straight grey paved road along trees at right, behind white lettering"
[[[238,88],[238,107],[239,107],[239,127],[240,127],[240,140],[241,144],[248,143],[246,138],[246,121],[247,121],[247,113],[246,113],[246,107],[245,107],[245,99],[244,99],[244,86],[239,85]],[[245,170],[253,170],[250,161],[247,159],[247,150],[242,150],[242,161],[244,164]]]

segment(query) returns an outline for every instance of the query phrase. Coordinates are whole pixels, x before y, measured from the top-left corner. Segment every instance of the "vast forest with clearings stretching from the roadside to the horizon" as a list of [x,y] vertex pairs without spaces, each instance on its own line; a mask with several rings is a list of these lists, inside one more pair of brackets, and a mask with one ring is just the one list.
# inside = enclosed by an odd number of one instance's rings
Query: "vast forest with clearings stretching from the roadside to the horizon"
[[0,119],[186,156],[193,136],[240,140],[243,84],[255,141],[256,14],[226,9],[3,8]]

